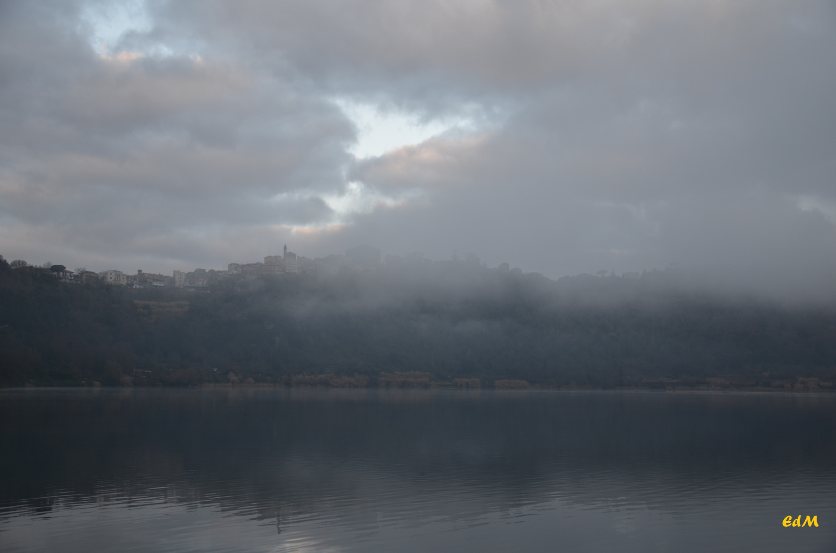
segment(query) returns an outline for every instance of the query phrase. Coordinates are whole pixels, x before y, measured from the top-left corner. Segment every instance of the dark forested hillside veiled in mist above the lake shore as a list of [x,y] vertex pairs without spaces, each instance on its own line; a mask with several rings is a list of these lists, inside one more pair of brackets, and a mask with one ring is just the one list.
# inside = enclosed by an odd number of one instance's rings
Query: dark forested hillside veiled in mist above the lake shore
[[0,386],[832,389],[836,307],[682,282],[416,257],[200,293],[0,257]]

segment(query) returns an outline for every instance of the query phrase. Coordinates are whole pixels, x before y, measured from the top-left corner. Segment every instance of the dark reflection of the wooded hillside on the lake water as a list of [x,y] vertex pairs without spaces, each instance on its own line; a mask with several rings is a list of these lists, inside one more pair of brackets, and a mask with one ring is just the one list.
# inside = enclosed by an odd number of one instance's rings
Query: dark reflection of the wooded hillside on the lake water
[[7,509],[154,497],[375,525],[376,509],[402,497],[466,519],[555,496],[757,490],[831,474],[833,407],[814,395],[12,392],[0,404],[0,449],[11,452],[0,496]]

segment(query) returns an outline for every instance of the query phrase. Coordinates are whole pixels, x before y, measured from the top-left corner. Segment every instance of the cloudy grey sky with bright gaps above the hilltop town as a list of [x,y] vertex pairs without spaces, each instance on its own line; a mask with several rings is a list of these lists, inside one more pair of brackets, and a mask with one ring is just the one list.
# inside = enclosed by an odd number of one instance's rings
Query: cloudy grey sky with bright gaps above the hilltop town
[[830,0],[6,1],[0,254],[824,286],[833,99]]

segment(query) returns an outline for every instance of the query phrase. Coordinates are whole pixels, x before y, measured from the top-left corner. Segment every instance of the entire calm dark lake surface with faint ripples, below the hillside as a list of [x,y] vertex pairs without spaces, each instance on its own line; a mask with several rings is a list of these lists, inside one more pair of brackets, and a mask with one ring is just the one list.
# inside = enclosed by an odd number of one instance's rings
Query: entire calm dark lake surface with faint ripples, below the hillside
[[0,424],[3,551],[836,550],[828,395],[12,390]]

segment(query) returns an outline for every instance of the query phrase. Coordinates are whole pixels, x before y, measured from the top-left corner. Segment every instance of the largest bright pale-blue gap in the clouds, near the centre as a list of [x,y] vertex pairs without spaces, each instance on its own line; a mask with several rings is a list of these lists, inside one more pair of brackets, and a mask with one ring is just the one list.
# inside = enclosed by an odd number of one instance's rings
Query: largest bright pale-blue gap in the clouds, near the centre
[[421,144],[451,130],[472,132],[477,130],[476,111],[473,107],[465,114],[441,119],[425,119],[396,109],[380,109],[375,104],[360,104],[344,99],[334,103],[357,127],[357,142],[349,153],[358,159],[376,157],[403,146]]

